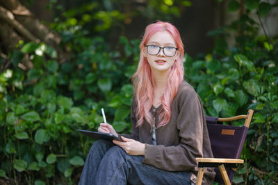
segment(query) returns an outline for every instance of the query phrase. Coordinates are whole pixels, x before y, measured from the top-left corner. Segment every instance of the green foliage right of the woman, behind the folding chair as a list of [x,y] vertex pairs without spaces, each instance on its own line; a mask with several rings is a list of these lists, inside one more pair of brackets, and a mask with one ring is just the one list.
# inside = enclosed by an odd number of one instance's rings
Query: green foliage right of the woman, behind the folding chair
[[[261,1],[245,1],[245,5],[261,17],[271,9],[270,3]],[[229,1],[230,11],[238,8],[238,1]],[[258,35],[261,25],[249,13],[208,33],[221,42],[216,42],[211,53],[196,59],[187,56],[185,69],[207,115],[229,117],[254,109],[241,156],[245,165],[237,172],[234,183],[277,184],[278,42],[277,36],[269,39],[268,35]],[[224,39],[229,33],[236,33],[236,44],[230,48]]]

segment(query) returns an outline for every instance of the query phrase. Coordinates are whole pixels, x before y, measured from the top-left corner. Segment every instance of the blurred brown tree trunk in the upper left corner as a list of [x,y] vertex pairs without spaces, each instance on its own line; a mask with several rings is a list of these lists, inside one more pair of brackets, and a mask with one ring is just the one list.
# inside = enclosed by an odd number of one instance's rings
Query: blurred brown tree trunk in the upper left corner
[[8,67],[7,63],[10,62],[6,55],[15,48],[20,39],[26,42],[44,42],[60,53],[60,35],[41,24],[18,0],[0,0],[0,22],[0,53],[4,59],[1,71]]

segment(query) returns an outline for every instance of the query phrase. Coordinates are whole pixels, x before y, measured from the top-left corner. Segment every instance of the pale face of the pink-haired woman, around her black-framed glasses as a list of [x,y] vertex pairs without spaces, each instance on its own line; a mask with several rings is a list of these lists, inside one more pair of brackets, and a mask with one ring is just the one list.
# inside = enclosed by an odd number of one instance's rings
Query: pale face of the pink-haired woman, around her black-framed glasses
[[[149,37],[149,42],[147,42],[146,45],[156,45],[159,47],[171,46],[177,48],[174,38],[167,31],[158,31],[154,33],[152,37]],[[150,49],[153,49],[153,46]],[[165,53],[167,55],[166,50],[167,49],[165,49]],[[163,53],[163,49],[160,49],[157,55],[150,55],[147,53],[147,47],[145,47],[144,50],[144,56],[147,58],[152,71],[170,71],[172,65],[179,56],[179,51],[177,51],[177,53],[172,57],[168,57],[166,55]]]

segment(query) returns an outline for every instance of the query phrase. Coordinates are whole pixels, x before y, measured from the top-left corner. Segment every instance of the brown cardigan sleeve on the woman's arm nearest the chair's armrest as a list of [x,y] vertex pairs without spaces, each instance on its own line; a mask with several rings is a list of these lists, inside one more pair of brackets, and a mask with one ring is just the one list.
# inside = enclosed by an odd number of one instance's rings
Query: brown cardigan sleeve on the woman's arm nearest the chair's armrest
[[182,93],[175,103],[177,105],[174,106],[179,107],[178,116],[174,118],[177,121],[177,129],[181,138],[179,145],[152,146],[145,144],[143,163],[163,170],[192,170],[197,166],[195,158],[202,157],[204,124],[202,103],[194,90],[187,91],[186,94]]

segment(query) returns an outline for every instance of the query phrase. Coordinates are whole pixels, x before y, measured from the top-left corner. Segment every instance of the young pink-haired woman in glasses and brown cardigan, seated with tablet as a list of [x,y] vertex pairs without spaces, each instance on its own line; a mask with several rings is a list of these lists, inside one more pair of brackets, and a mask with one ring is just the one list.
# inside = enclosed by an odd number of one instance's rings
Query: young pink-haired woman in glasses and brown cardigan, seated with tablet
[[[96,141],[79,184],[194,184],[196,157],[213,157],[201,100],[183,80],[183,43],[172,24],[150,24],[133,76],[131,134]],[[101,123],[99,132],[118,135]],[[212,184],[215,173],[204,174]]]

